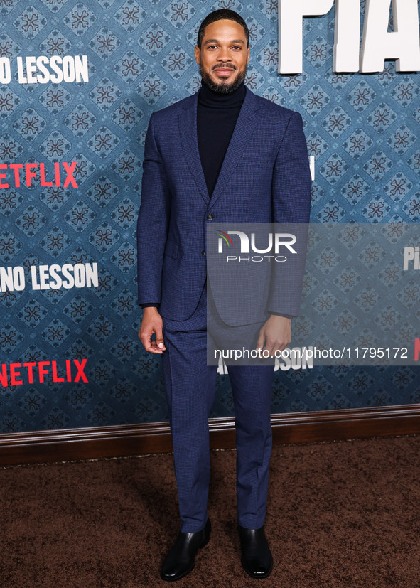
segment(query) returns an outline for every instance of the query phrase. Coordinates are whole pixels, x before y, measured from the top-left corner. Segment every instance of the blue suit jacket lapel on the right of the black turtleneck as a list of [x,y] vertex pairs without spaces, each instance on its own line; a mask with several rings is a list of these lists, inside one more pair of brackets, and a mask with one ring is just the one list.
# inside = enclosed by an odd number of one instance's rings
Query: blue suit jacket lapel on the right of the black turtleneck
[[244,149],[252,136],[255,125],[257,124],[257,119],[253,113],[255,110],[258,110],[259,107],[255,102],[254,94],[247,88],[244,102],[239,111],[239,116],[237,117],[235,130],[230,139],[225,159],[223,160],[222,169],[220,170],[215,189],[212,193],[210,205],[213,205],[215,201],[217,201],[217,198],[220,197],[230,176],[232,176],[237,164],[239,164],[239,161],[243,157]]

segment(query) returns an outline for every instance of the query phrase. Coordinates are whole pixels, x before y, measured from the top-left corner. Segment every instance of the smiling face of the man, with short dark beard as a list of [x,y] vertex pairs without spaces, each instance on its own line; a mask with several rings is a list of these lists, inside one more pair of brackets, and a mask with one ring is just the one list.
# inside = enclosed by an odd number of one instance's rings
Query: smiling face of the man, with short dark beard
[[249,47],[244,27],[221,20],[205,27],[201,49],[195,46],[200,75],[215,92],[230,94],[245,79]]

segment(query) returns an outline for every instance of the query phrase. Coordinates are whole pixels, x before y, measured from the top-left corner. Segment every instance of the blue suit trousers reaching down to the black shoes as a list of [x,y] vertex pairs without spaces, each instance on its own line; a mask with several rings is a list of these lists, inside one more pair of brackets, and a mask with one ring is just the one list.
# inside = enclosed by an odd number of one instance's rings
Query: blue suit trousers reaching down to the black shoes
[[[215,396],[217,366],[207,365],[206,311],[204,287],[198,307],[189,319],[173,321],[162,317],[166,346],[162,365],[182,533],[202,530],[208,516],[208,417]],[[218,337],[222,334],[222,325],[220,319]],[[261,326],[255,325],[256,333]],[[242,527],[258,529],[264,525],[266,514],[274,370],[273,365],[228,365],[227,369],[235,403],[237,519]]]

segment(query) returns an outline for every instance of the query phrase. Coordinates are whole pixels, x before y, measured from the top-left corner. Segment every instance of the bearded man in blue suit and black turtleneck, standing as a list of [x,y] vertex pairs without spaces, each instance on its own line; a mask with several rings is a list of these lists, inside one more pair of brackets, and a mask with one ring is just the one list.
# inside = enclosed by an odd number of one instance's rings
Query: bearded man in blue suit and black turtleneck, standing
[[[206,357],[207,228],[215,223],[308,223],[311,177],[300,114],[244,85],[249,31],[234,11],[201,23],[195,46],[202,86],[151,115],[137,228],[139,337],[161,354],[181,531],[161,578],[190,572],[210,538],[207,515],[208,415],[217,367]],[[217,294],[211,304],[217,311]],[[296,296],[281,298],[254,322],[257,346],[274,354],[291,341]],[[268,317],[268,318],[267,318]],[[229,324],[224,316],[223,323]],[[153,336],[156,335],[156,341]],[[237,433],[237,519],[242,566],[267,577],[273,561],[264,534],[271,454],[272,365],[228,367]]]

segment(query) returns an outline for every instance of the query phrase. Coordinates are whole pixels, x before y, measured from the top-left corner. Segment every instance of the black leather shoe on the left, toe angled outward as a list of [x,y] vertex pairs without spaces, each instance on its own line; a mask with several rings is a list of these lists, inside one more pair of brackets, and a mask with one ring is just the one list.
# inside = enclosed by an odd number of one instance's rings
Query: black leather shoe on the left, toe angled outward
[[205,528],[197,533],[179,533],[172,549],[166,555],[161,569],[161,578],[167,582],[176,582],[193,570],[195,554],[205,547],[210,539],[210,518]]

